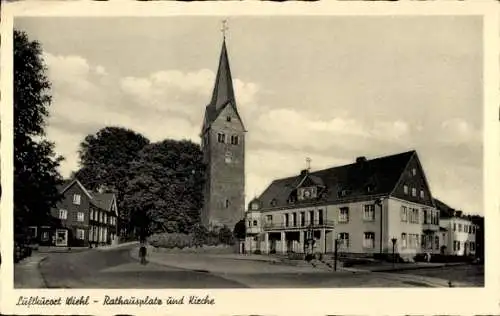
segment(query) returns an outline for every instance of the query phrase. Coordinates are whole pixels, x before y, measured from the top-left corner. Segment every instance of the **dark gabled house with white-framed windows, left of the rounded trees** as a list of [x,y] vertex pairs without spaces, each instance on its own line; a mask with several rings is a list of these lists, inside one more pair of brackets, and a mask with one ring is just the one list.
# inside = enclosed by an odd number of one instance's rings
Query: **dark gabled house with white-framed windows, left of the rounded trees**
[[30,227],[40,245],[82,247],[111,244],[117,236],[118,208],[114,193],[91,192],[77,179],[65,181],[62,199],[51,221]]

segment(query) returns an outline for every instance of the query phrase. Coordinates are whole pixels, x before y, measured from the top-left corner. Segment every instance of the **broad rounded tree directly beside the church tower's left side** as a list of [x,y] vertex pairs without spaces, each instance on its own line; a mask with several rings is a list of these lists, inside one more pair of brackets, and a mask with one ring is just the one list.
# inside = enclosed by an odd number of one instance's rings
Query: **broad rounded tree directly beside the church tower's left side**
[[203,178],[199,145],[186,140],[153,143],[130,166],[123,204],[130,218],[146,212],[154,223],[162,223],[163,231],[188,233],[200,220]]

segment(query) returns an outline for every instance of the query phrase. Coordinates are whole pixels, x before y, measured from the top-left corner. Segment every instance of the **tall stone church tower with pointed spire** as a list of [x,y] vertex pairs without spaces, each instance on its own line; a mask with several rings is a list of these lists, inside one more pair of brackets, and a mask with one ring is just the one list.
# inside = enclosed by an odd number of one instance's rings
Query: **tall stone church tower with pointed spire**
[[[225,29],[223,29],[225,31]],[[224,36],[212,100],[206,106],[201,146],[206,164],[205,227],[234,225],[245,212],[245,127],[238,113]]]

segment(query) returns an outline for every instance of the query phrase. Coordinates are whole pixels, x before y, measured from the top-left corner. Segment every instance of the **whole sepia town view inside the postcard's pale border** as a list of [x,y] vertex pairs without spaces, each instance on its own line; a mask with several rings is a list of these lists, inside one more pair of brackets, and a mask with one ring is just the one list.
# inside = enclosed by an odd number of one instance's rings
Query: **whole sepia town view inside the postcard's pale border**
[[14,16],[14,290],[484,290],[484,14]]

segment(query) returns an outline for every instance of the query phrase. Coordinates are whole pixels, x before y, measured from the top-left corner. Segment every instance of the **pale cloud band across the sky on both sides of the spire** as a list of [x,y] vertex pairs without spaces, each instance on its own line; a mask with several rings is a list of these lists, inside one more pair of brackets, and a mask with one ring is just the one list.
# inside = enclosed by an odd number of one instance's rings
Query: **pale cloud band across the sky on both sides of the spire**
[[[119,77],[82,56],[46,53],[53,86],[48,137],[65,156],[61,172],[78,167],[79,143],[105,126],[123,126],[151,141],[199,142],[205,105],[215,74],[208,69],[167,69],[146,76]],[[456,207],[477,210],[463,190],[481,194],[481,129],[466,118],[435,120],[366,115],[341,108],[281,104],[255,82],[234,79],[246,134],[247,202],[274,179],[293,176],[312,158],[313,170],[417,149],[435,194]],[[439,154],[436,154],[439,153]],[[450,169],[453,162],[453,169]],[[471,167],[472,166],[472,167]],[[475,200],[474,200],[475,201]]]

